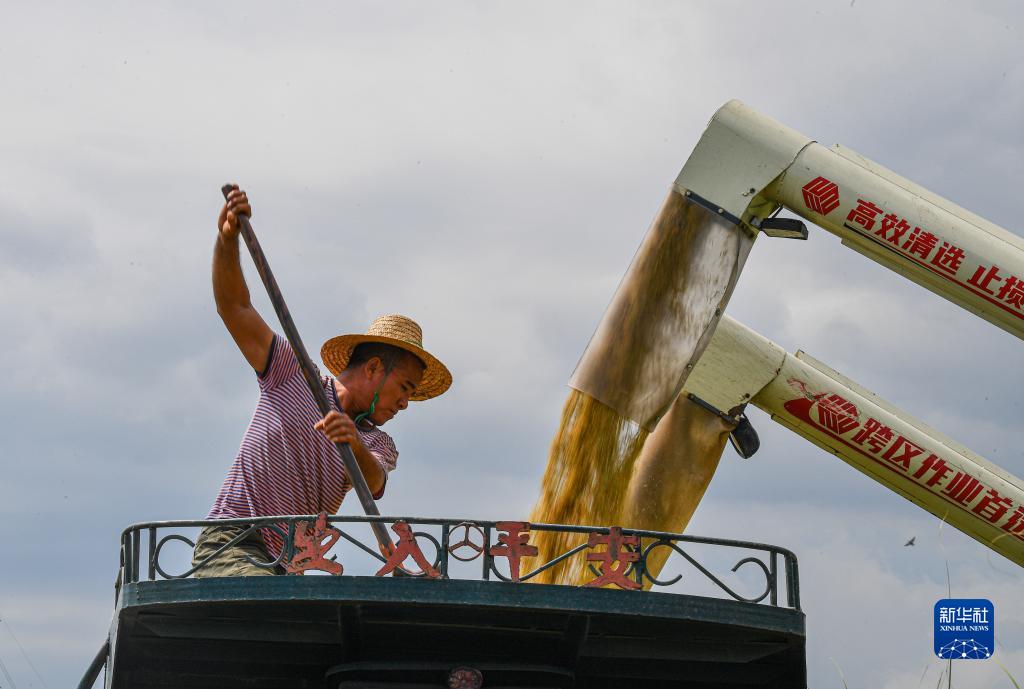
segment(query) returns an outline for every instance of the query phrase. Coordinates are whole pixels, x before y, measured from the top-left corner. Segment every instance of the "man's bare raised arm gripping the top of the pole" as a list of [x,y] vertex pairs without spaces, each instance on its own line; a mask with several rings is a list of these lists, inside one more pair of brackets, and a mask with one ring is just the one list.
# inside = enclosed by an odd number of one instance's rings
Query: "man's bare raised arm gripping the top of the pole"
[[270,354],[273,332],[249,300],[249,288],[239,261],[239,216],[252,216],[249,199],[238,186],[217,218],[217,244],[213,248],[213,298],[217,313],[234,338],[243,356],[262,372]]

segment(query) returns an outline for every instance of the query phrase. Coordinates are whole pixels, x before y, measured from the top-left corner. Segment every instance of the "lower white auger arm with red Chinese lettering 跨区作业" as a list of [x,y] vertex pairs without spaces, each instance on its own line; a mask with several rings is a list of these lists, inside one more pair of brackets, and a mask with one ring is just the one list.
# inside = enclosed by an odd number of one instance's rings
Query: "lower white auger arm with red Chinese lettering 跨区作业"
[[812,356],[726,316],[683,389],[690,395],[725,410],[750,401],[1024,566],[1024,481]]

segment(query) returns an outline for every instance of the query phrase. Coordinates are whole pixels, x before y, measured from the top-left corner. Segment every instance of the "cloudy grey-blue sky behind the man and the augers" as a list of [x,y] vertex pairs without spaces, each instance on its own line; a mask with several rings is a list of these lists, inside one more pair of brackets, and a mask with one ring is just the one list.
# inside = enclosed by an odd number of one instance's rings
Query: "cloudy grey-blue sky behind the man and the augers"
[[[120,530],[204,516],[238,447],[225,181],[307,346],[402,312],[455,373],[388,426],[385,514],[527,514],[565,381],[730,98],[1024,233],[1011,1],[8,0],[0,94],[0,659],[23,689],[77,683]],[[1020,342],[830,234],[758,242],[729,313],[1024,475]],[[935,686],[947,566],[997,619],[953,685],[1024,678],[1020,567],[752,418],[761,451],[726,450],[689,530],[796,551],[812,686]]]

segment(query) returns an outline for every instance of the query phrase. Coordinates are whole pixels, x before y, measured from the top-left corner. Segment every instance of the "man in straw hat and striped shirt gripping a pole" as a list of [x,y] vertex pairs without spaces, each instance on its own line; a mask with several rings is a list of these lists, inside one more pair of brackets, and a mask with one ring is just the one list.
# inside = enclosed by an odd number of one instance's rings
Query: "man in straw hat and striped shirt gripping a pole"
[[[334,378],[322,376],[332,411],[321,418],[288,340],[275,335],[249,300],[239,261],[239,216],[251,216],[237,186],[217,220],[213,295],[217,313],[256,372],[260,397],[208,519],[335,513],[351,488],[335,442],[347,442],[375,499],[384,493],[398,450],[379,427],[411,400],[429,399],[452,384],[449,370],[423,349],[420,327],[400,315],[377,318],[365,335],[328,340],[321,356]],[[196,543],[197,566],[247,527],[207,527]],[[196,576],[281,573],[248,558],[273,562],[284,539],[278,529],[253,531],[226,548]]]

